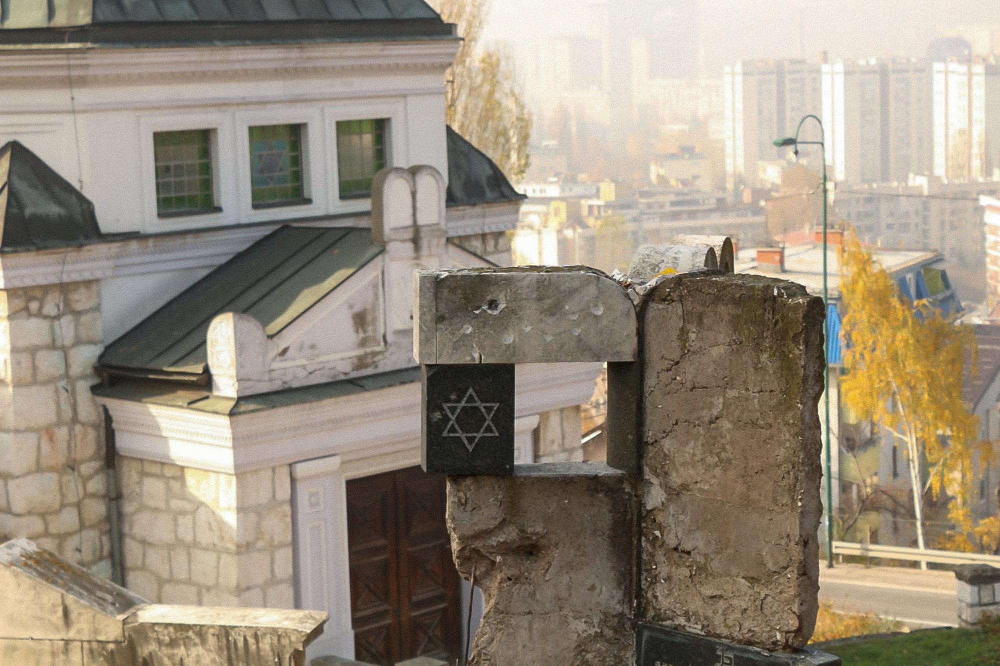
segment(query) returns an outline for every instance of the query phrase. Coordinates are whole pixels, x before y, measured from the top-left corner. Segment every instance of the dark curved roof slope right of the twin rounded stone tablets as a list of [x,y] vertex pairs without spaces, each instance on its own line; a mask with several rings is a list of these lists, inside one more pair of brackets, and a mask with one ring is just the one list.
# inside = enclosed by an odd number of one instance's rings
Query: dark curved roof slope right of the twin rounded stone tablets
[[526,198],[511,186],[507,176],[486,153],[451,127],[447,131],[449,206],[475,206]]

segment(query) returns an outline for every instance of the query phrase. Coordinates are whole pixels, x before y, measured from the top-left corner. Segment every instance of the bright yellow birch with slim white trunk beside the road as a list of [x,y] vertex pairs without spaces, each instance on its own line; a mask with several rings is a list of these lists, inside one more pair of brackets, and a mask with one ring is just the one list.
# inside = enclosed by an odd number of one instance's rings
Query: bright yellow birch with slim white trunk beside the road
[[[942,316],[933,303],[911,303],[854,232],[841,256],[846,405],[870,419],[906,452],[917,527],[925,548],[923,498],[969,473],[979,442],[978,418],[962,400],[972,331]],[[988,455],[988,453],[987,453]]]

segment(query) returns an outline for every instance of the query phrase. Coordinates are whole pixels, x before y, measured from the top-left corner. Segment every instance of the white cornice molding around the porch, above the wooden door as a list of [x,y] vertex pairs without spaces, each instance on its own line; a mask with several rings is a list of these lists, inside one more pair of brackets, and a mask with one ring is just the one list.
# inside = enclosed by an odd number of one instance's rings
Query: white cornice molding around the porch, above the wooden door
[[[590,398],[600,364],[519,366],[515,414]],[[235,474],[331,455],[359,460],[411,449],[420,441],[420,384],[227,416],[98,397],[111,413],[120,454]]]

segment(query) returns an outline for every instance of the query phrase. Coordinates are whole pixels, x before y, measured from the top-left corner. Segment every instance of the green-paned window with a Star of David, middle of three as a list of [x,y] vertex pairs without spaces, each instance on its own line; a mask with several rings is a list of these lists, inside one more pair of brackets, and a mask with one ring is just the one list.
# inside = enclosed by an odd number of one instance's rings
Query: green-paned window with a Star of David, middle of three
[[302,126],[250,128],[250,191],[254,206],[303,203]]

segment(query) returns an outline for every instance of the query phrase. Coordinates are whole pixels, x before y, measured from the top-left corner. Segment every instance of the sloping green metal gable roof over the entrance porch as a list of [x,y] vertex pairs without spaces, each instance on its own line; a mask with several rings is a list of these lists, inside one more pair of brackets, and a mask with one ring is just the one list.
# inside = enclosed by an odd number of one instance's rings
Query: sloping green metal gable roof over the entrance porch
[[203,378],[205,336],[216,315],[249,314],[273,337],[383,249],[372,243],[370,229],[281,227],[108,345],[98,368]]

